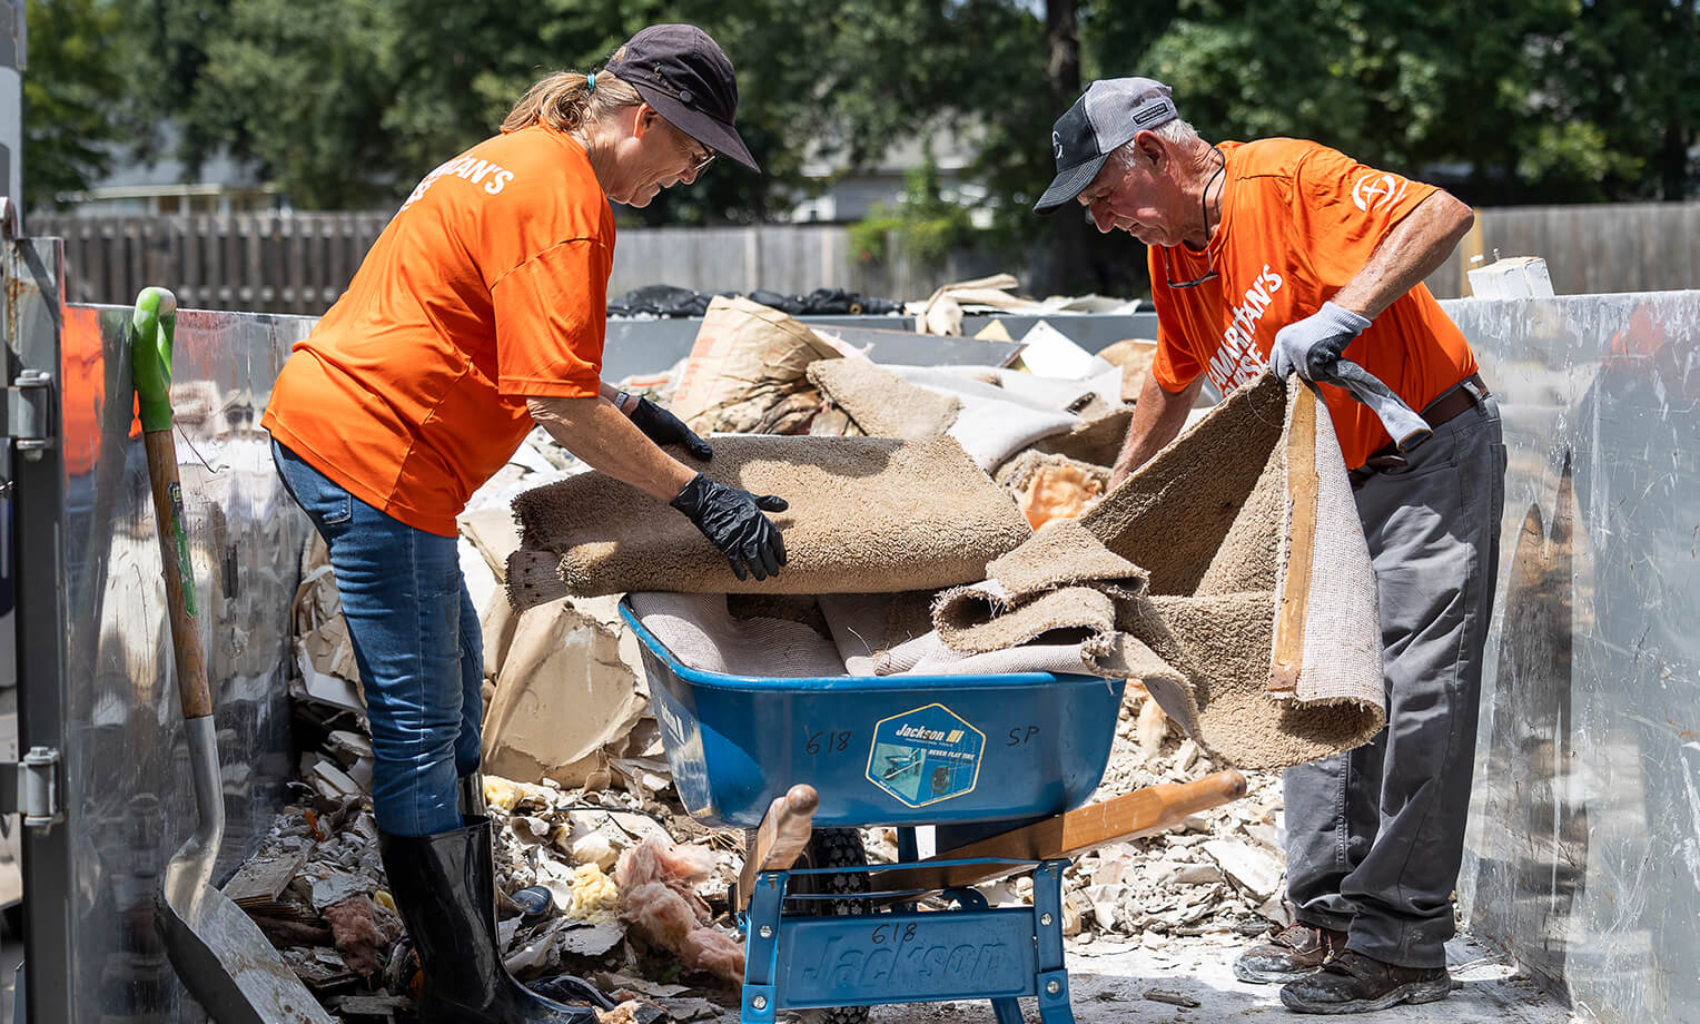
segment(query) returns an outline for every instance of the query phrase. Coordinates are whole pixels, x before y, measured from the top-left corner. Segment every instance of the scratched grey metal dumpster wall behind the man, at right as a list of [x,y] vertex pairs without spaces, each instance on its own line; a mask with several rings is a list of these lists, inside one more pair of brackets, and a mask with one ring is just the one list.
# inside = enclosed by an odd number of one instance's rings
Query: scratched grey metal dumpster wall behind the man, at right
[[1700,291],[1443,303],[1504,410],[1460,895],[1608,1022],[1700,1022]]

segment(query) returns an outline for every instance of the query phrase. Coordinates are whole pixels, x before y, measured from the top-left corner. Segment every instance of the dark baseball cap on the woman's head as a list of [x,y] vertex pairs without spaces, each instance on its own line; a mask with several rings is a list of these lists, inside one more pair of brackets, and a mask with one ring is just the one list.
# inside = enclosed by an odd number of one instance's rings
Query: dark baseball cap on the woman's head
[[636,88],[673,128],[760,174],[733,128],[733,61],[697,26],[649,26],[615,49],[604,70]]

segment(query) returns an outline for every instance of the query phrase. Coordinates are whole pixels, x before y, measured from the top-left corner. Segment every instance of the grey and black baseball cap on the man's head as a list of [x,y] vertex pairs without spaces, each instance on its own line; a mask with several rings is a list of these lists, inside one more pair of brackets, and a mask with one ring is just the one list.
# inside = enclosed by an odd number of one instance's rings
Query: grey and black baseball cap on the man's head
[[[1139,102],[1144,99],[1144,102]],[[1100,78],[1086,87],[1066,114],[1051,126],[1051,151],[1057,177],[1034,204],[1051,213],[1081,194],[1098,177],[1117,146],[1148,128],[1180,117],[1170,87],[1156,78]]]

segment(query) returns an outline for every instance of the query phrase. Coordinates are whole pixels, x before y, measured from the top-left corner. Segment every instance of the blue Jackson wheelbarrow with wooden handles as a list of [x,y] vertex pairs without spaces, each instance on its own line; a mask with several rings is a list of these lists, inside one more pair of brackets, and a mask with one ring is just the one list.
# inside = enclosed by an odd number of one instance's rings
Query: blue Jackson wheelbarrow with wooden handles
[[[962,998],[1020,1024],[1022,997],[1044,1024],[1073,1024],[1069,857],[1244,794],[1229,771],[1081,806],[1103,777],[1125,680],[726,675],[682,665],[626,602],[620,614],[685,810],[751,830],[733,893],[741,1024],[779,1010],[855,1024],[870,1005]],[[896,864],[867,864],[858,828],[872,825],[896,828]],[[1032,874],[1032,907],[989,907],[972,888],[1013,873]],[[949,908],[921,908],[932,895]]]

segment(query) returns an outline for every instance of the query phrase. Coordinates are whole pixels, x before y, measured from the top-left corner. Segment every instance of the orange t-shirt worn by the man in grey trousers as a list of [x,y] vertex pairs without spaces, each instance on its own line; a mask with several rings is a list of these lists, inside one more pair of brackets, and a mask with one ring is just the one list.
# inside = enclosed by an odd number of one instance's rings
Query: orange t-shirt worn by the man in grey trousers
[[[1200,373],[1222,395],[1268,366],[1275,332],[1334,298],[1394,225],[1433,185],[1363,167],[1304,139],[1222,143],[1222,219],[1210,245],[1153,247],[1151,296],[1158,350],[1151,376],[1180,391]],[[1170,287],[1214,267],[1221,277]],[[1464,333],[1418,284],[1346,345],[1345,357],[1421,410],[1476,373]],[[1391,437],[1345,388],[1323,384],[1346,466],[1362,466]]]

